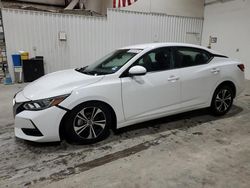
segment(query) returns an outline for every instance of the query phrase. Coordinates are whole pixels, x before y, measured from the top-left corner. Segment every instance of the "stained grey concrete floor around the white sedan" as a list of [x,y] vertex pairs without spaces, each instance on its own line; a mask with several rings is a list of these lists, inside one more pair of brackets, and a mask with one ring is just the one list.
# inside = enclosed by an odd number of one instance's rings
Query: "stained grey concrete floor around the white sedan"
[[0,187],[250,187],[250,81],[226,116],[184,113],[90,146],[16,139],[22,87],[0,85]]

